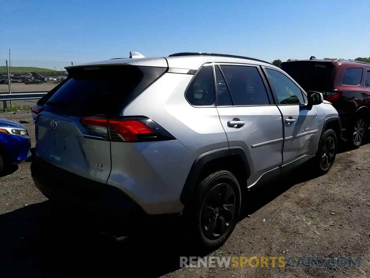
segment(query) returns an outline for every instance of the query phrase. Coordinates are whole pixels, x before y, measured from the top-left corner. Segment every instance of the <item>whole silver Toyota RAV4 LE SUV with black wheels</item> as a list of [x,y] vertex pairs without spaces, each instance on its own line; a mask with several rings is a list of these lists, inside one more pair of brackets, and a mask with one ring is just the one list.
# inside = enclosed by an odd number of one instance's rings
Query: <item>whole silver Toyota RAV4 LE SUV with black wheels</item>
[[250,189],[306,161],[328,172],[342,138],[321,93],[262,60],[133,52],[66,69],[38,103],[37,188],[128,226],[179,215],[203,247],[229,237]]

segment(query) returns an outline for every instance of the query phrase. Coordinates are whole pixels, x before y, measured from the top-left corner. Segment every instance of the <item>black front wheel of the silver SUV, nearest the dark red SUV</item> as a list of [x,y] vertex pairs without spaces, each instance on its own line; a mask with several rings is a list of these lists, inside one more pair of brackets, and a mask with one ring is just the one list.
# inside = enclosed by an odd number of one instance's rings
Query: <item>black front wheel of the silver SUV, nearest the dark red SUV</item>
[[325,175],[332,168],[337,155],[337,135],[333,129],[323,132],[316,156],[313,158],[313,168],[318,175]]

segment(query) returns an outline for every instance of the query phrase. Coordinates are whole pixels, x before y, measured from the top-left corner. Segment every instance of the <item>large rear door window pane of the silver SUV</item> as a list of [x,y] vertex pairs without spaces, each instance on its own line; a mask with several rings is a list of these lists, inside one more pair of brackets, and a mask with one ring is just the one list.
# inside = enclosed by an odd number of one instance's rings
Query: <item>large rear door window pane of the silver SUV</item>
[[222,65],[234,105],[269,105],[266,88],[256,67]]

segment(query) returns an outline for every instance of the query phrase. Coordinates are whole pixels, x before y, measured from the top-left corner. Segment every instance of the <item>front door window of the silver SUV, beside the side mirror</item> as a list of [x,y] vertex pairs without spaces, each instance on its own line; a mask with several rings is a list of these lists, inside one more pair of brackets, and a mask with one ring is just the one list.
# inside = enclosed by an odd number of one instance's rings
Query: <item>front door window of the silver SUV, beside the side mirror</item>
[[303,104],[302,92],[286,75],[277,70],[266,69],[271,86],[276,92],[278,104]]

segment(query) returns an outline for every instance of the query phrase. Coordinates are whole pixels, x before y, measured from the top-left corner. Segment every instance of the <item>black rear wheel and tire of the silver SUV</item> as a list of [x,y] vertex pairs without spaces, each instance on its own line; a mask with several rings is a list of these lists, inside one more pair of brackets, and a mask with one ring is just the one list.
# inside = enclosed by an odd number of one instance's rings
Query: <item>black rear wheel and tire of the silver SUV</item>
[[238,222],[240,205],[240,185],[231,172],[217,171],[203,179],[185,208],[192,243],[203,249],[222,246]]

